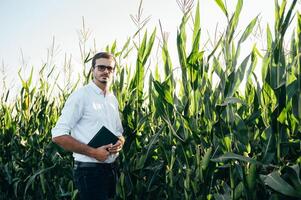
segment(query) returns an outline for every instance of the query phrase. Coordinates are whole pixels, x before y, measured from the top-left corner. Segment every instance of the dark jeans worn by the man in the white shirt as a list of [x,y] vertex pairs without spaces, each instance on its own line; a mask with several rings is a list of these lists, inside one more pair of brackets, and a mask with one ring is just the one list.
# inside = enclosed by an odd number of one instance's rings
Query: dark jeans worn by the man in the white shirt
[[117,175],[113,164],[75,162],[73,175],[80,200],[114,198]]

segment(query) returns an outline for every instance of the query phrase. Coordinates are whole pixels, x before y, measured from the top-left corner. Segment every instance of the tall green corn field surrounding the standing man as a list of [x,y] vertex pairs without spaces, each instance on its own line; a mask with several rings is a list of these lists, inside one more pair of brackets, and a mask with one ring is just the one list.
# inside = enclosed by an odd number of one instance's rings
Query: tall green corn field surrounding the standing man
[[[233,14],[222,0],[215,2],[228,24],[210,50],[201,48],[199,3],[194,9],[183,5],[178,61],[172,60],[163,36],[162,65],[150,62],[160,35],[156,29],[141,29],[139,42],[130,38],[121,48],[116,42],[106,47],[119,61],[112,90],[126,137],[117,161],[116,199],[301,199],[297,0],[275,0],[275,23],[266,27],[266,49],[261,52],[255,44],[244,58],[241,46],[258,17],[237,33],[243,0],[237,1]],[[284,38],[291,26],[287,50]],[[83,53],[83,66],[90,66],[93,53]],[[121,62],[130,54],[136,56],[134,66]],[[179,78],[175,62],[180,63]],[[69,94],[91,77],[83,70],[74,87],[58,87],[48,81],[52,71],[42,67],[37,83],[33,72],[26,80],[19,74],[22,88],[13,102],[8,101],[10,90],[2,91],[0,199],[77,198],[71,153],[51,142],[51,128]]]

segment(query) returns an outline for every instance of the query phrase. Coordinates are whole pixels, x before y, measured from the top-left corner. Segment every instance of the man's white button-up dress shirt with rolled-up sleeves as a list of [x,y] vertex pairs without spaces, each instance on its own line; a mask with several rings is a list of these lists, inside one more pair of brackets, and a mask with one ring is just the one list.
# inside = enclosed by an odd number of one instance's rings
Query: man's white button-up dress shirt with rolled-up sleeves
[[[52,138],[68,135],[87,144],[98,130],[105,126],[116,136],[122,136],[123,128],[119,116],[118,101],[114,94],[104,92],[94,83],[73,92],[67,99]],[[114,162],[118,154],[111,154],[105,163]],[[73,153],[76,161],[99,162],[83,154]]]

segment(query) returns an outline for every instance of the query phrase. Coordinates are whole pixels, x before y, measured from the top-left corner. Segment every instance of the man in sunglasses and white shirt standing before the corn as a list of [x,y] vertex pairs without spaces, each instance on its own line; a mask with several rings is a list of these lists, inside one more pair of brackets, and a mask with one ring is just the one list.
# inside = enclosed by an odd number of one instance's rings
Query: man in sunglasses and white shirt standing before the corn
[[[124,144],[118,102],[108,91],[115,64],[113,55],[106,52],[93,57],[93,81],[70,95],[52,129],[53,142],[73,152],[74,181],[82,200],[109,199],[115,194],[112,163]],[[98,148],[88,146],[102,126],[113,132],[118,142]]]

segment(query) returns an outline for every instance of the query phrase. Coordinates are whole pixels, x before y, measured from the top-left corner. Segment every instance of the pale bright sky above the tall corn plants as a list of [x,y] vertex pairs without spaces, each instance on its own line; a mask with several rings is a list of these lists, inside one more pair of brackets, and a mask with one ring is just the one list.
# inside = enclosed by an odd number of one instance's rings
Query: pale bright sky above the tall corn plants
[[[82,17],[91,31],[88,48],[93,47],[93,39],[98,50],[103,50],[114,40],[117,40],[118,47],[121,48],[126,39],[137,30],[130,14],[136,15],[139,2],[140,0],[0,0],[0,62],[8,84],[18,79],[16,75],[20,67],[41,67],[53,37],[57,47],[56,65],[62,65],[65,54],[72,55],[73,67],[79,65],[78,31],[82,26]],[[230,13],[233,13],[236,2],[227,0]],[[157,27],[157,35],[160,37],[160,20],[164,31],[170,33],[171,55],[177,60],[176,30],[182,13],[176,0],[144,0],[142,7],[143,16],[151,16],[147,25],[149,32]],[[300,4],[297,7],[300,10]],[[220,31],[224,30],[226,18],[214,0],[200,0],[200,13],[203,41],[208,38],[208,34],[213,39],[217,24]],[[244,0],[238,30],[243,31],[257,15],[260,15],[263,29],[267,23],[273,28],[274,0]],[[192,34],[190,30],[187,32]],[[251,44],[246,49],[251,49]],[[260,45],[257,46],[260,48]],[[3,78],[3,73],[0,78]],[[2,83],[0,86],[2,87]]]

